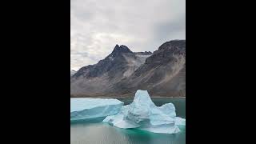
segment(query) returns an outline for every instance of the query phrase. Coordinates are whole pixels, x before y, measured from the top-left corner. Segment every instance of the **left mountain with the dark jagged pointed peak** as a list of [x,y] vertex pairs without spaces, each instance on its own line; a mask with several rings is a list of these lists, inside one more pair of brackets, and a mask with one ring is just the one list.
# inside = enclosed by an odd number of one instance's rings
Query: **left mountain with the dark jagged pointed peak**
[[[145,60],[145,58],[144,58]],[[143,58],[137,57],[127,46],[115,46],[111,54],[95,65],[84,66],[70,79],[71,95],[106,95],[122,78],[129,77]]]

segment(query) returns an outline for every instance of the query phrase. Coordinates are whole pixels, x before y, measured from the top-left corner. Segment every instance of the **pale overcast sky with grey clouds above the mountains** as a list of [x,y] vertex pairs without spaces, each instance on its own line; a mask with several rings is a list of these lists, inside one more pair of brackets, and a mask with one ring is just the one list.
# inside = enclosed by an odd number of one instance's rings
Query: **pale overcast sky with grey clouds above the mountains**
[[186,39],[186,0],[71,0],[70,68],[95,64],[116,44],[132,51]]

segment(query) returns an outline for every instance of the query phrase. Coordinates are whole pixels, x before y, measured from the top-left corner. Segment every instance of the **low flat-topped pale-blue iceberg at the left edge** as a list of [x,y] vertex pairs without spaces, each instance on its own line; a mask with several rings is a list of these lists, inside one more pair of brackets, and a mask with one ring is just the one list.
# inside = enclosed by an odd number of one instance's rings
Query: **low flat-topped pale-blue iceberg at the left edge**
[[118,114],[123,102],[113,98],[70,98],[70,121]]

